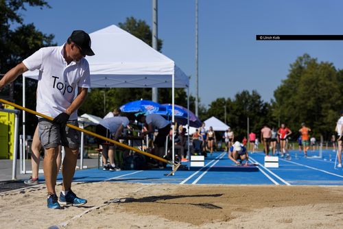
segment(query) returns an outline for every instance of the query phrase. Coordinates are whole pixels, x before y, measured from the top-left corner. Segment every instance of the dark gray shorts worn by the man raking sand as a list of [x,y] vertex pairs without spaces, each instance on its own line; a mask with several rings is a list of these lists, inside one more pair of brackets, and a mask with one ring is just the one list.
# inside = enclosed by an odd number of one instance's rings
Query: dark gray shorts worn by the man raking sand
[[[67,123],[79,126],[77,120]],[[47,119],[39,119],[38,134],[44,149],[54,148],[58,145],[78,149],[80,145],[81,134],[78,130],[66,126],[65,130],[60,131],[60,125]]]

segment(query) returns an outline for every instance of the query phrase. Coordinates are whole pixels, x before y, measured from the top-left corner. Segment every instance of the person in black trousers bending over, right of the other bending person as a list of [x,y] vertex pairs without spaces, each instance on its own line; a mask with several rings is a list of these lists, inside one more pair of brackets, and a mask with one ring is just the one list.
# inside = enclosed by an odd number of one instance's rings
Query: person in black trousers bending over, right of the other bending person
[[[147,124],[147,132],[143,132],[144,135],[154,133],[155,129],[158,130],[158,134],[154,141],[155,152],[157,156],[163,158],[163,155],[165,154],[165,141],[170,131],[169,121],[157,114],[149,114],[146,116],[143,114],[138,114],[136,119],[140,123]],[[159,161],[158,167],[163,169],[163,163]]]

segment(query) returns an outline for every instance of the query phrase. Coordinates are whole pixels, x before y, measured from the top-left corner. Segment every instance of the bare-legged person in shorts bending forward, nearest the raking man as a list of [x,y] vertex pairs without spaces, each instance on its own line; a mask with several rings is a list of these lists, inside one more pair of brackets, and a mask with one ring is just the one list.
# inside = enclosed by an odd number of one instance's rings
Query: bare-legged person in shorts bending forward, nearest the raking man
[[[106,138],[111,138],[115,141],[118,141],[118,138],[119,136],[121,136],[123,129],[127,128],[129,123],[132,123],[135,120],[135,118],[136,117],[133,114],[127,114],[126,117],[117,116],[102,119],[102,121],[100,121],[99,124],[96,126],[95,132],[101,136],[105,136]],[[119,171],[120,169],[115,166],[114,145],[100,138],[97,138],[97,143],[99,145],[102,145],[103,150],[105,145],[108,149],[108,154],[102,155],[102,159],[104,162],[104,170]],[[107,164],[108,159],[110,160],[109,165]]]

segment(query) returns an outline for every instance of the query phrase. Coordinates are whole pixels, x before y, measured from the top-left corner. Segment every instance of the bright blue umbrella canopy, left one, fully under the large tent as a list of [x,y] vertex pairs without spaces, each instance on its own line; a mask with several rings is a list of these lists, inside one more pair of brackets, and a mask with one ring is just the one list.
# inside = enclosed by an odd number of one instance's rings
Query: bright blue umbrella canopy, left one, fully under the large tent
[[130,101],[120,107],[121,112],[145,112],[146,114],[167,115],[167,108],[150,100]]

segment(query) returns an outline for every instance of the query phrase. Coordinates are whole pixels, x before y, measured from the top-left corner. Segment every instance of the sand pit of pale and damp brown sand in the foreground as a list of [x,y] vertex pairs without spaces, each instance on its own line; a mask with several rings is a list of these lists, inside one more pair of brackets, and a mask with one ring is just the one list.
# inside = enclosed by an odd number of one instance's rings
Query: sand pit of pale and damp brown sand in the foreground
[[1,228],[343,228],[340,186],[95,182],[73,191],[88,204],[49,210],[43,185],[1,193]]

